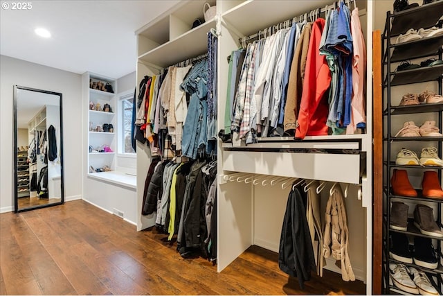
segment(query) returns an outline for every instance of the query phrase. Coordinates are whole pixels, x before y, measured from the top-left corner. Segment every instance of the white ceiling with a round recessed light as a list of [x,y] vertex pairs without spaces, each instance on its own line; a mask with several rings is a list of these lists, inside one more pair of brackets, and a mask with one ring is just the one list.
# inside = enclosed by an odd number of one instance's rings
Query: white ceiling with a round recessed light
[[[134,32],[178,2],[30,1],[30,10],[12,10],[12,1],[1,1],[10,5],[0,9],[0,53],[73,73],[120,78],[136,70]],[[37,27],[52,36],[37,36]]]

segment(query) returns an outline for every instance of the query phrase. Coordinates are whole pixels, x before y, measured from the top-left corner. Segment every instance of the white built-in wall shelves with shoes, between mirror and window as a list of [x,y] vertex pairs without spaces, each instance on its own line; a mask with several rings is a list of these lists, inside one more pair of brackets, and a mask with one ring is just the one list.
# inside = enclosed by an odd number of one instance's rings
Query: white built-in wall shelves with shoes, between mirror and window
[[[89,88],[89,81],[101,81],[104,84],[109,83],[112,85],[114,93],[103,92],[98,89]],[[109,166],[111,170],[114,170],[115,164],[115,153],[89,153],[89,147],[99,150],[103,146],[107,145],[111,150],[116,150],[116,80],[107,78],[104,76],[98,76],[92,73],[83,74],[83,84],[84,84],[84,104],[87,108],[87,174],[90,173],[90,168],[94,170],[97,168],[102,168],[103,166]],[[91,110],[89,103],[92,102],[94,106],[100,104],[99,110]],[[111,106],[112,112],[105,112],[103,109],[105,104]],[[114,132],[97,132],[96,128],[100,125],[100,128],[107,123],[111,123],[114,127]],[[95,172],[94,172],[95,173]]]

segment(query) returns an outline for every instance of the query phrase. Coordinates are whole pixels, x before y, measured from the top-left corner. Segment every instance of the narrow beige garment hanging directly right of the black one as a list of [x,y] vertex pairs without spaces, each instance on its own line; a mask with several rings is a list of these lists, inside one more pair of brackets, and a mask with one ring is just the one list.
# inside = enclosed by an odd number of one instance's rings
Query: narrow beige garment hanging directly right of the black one
[[307,204],[306,204],[306,218],[309,227],[309,234],[311,234],[312,247],[314,242],[318,241],[317,250],[317,275],[323,277],[323,265],[325,259],[323,258],[323,234],[320,220],[320,195],[316,192],[319,185],[318,181],[314,181],[308,187]]

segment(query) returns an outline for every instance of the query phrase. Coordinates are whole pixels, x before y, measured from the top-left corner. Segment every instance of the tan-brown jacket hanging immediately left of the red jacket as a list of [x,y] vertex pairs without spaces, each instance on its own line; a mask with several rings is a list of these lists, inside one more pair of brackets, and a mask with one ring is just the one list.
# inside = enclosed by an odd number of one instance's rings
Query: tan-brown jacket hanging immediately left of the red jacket
[[298,107],[302,99],[303,80],[305,78],[307,50],[311,37],[312,23],[307,23],[297,42],[293,53],[291,72],[289,72],[288,94],[286,105],[284,106],[284,131],[295,130],[297,128]]

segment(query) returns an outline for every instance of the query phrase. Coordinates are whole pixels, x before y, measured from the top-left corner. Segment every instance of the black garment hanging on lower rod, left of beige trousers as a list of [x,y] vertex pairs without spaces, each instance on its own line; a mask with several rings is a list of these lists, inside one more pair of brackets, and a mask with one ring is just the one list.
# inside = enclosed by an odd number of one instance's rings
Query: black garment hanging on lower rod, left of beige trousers
[[302,289],[303,283],[311,279],[311,270],[316,270],[304,200],[306,193],[302,188],[289,193],[278,251],[278,266],[291,277],[298,277]]

